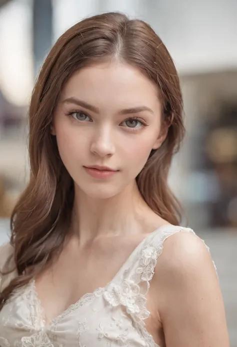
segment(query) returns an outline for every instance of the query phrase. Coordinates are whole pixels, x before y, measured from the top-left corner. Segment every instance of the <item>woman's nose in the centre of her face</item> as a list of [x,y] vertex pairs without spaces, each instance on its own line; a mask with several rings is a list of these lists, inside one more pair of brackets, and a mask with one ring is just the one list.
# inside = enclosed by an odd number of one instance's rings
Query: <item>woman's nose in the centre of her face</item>
[[109,127],[96,131],[91,142],[90,151],[100,157],[111,156],[115,153],[112,133]]

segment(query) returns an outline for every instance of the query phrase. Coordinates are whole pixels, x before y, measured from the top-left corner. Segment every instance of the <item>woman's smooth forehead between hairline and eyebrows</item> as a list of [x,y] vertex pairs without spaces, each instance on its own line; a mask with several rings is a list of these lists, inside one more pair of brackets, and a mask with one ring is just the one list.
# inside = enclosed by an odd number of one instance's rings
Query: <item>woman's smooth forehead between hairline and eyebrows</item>
[[75,72],[65,84],[60,100],[78,98],[89,104],[123,104],[125,108],[147,104],[157,107],[157,86],[137,68],[124,63],[105,63]]

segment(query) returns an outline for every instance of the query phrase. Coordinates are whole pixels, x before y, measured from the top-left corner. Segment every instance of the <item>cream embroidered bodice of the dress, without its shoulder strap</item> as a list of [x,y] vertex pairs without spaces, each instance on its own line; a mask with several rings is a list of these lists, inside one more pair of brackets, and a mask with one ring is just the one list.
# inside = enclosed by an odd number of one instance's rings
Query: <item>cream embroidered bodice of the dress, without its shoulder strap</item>
[[146,314],[135,294],[118,294],[118,288],[110,286],[85,294],[45,324],[39,302],[28,288],[0,312],[0,346],[157,346],[143,321]]

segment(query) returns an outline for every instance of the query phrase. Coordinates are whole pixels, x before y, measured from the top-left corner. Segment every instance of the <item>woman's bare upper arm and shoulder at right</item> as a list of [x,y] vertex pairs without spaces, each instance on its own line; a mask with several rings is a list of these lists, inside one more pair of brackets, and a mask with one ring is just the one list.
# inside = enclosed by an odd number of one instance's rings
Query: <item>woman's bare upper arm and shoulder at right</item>
[[225,310],[212,259],[200,238],[169,237],[154,283],[166,347],[228,347]]

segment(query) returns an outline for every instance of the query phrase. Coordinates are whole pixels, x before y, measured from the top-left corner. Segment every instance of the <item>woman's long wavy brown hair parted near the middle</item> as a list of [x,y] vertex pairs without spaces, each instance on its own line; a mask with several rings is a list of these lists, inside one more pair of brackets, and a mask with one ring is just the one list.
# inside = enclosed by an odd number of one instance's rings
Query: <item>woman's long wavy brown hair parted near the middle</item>
[[129,20],[120,13],[84,19],[52,47],[32,93],[28,114],[30,179],[10,222],[18,276],[0,294],[0,307],[13,289],[26,284],[62,248],[74,191],[50,135],[50,123],[60,91],[72,74],[107,59],[137,67],[157,85],[163,121],[171,124],[162,146],[150,153],[137,185],[154,212],[172,224],[179,223],[179,205],[167,185],[171,158],[184,134],[182,96],[173,61],[162,41],[143,21]]

